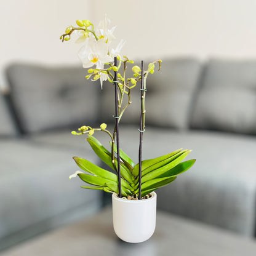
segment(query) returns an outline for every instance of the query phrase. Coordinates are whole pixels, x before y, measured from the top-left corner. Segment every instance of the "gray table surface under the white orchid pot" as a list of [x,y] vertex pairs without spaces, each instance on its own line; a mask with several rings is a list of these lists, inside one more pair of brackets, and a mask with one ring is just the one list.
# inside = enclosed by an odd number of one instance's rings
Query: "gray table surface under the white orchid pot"
[[114,234],[111,208],[107,207],[91,218],[42,234],[0,255],[255,256],[256,241],[158,211],[153,236],[140,244],[129,244]]

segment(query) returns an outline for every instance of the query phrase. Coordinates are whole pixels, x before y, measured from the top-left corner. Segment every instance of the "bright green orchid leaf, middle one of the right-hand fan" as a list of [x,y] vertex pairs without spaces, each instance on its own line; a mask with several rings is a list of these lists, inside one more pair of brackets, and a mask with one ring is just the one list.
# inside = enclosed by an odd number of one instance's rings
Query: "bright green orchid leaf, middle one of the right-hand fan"
[[178,158],[175,158],[173,161],[169,162],[165,166],[162,166],[156,170],[149,172],[148,174],[142,177],[142,183],[147,182],[148,180],[152,180],[153,178],[159,177],[160,175],[166,173],[168,170],[177,166],[184,158],[191,152],[191,150],[185,150]]

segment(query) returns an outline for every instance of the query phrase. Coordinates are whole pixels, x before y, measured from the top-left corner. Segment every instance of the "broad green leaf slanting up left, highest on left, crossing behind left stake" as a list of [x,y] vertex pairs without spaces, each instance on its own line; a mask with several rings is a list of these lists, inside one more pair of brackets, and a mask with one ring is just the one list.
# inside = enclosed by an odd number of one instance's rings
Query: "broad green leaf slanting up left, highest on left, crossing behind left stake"
[[[89,136],[87,138],[87,142],[89,142],[90,146],[92,147],[92,150],[97,154],[97,156],[102,159],[105,164],[107,164],[109,167],[115,170],[112,159],[111,159],[111,153],[110,151],[106,150],[106,148],[98,142],[98,140],[92,136]],[[115,159],[115,162],[117,162],[117,159]],[[121,176],[126,179],[129,183],[134,183],[134,177],[130,173],[129,169],[124,165],[123,162],[120,162],[120,170],[121,170]]]

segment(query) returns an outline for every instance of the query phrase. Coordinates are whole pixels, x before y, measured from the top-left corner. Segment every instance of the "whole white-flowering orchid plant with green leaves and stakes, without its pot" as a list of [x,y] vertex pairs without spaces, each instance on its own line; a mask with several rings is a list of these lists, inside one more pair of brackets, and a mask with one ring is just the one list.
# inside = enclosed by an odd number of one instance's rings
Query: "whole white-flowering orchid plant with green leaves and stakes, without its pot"
[[[87,79],[93,81],[100,80],[101,87],[103,81],[110,81],[115,87],[115,110],[116,125],[113,132],[107,129],[105,123],[99,127],[82,126],[78,131],[73,131],[74,135],[88,135],[87,142],[97,156],[105,164],[110,166],[117,174],[87,161],[83,158],[74,157],[76,164],[82,169],[76,171],[70,178],[77,175],[88,185],[82,188],[92,190],[103,190],[110,193],[117,193],[119,197],[128,199],[143,199],[150,197],[150,193],[175,180],[178,174],[185,172],[193,166],[195,160],[182,162],[190,153],[190,150],[176,150],[164,156],[142,161],[142,135],[145,132],[145,96],[146,78],[154,73],[155,65],[161,68],[161,60],[156,60],[148,65],[147,70],[137,65],[132,67],[134,75],[126,77],[126,70],[130,63],[125,55],[121,57],[120,51],[124,46],[121,40],[114,47],[114,30],[110,27],[110,20],[105,17],[97,28],[89,20],[76,20],[78,26],[68,26],[60,39],[68,41],[71,35],[76,33],[76,42],[83,43],[78,52],[78,57],[82,61],[82,66],[88,69]],[[119,148],[119,122],[126,108],[131,103],[130,91],[141,82],[141,119],[140,119],[140,150],[139,161],[135,164],[129,156]],[[93,135],[95,132],[105,132],[110,137],[110,151],[105,148]]]

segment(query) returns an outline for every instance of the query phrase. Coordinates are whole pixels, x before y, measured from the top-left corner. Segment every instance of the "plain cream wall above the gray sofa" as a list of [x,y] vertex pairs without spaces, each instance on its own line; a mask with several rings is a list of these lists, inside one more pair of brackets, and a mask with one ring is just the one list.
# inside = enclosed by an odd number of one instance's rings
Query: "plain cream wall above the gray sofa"
[[[256,56],[254,0],[1,1],[1,70],[14,60],[70,65],[79,45],[58,36],[75,20],[98,24],[107,14],[134,58],[193,55]],[[1,75],[1,83],[4,78]]]

